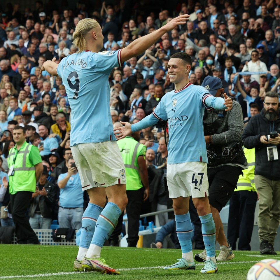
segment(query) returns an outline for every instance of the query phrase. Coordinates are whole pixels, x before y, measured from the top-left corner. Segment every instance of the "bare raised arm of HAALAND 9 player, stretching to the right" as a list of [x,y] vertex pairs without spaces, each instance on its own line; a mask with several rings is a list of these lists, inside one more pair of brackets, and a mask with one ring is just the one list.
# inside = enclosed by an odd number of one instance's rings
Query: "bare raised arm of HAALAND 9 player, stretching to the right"
[[131,57],[138,56],[152,46],[164,33],[173,30],[177,25],[185,24],[190,15],[179,15],[173,20],[162,26],[160,29],[134,40],[127,47],[122,49],[122,62],[129,60]]

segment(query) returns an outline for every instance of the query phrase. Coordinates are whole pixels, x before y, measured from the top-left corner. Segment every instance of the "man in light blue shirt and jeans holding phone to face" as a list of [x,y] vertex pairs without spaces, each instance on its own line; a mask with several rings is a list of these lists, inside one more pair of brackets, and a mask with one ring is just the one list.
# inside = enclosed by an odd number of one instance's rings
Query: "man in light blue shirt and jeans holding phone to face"
[[58,223],[60,227],[78,230],[82,227],[84,196],[73,157],[68,160],[67,173],[58,177],[57,185],[60,188]]

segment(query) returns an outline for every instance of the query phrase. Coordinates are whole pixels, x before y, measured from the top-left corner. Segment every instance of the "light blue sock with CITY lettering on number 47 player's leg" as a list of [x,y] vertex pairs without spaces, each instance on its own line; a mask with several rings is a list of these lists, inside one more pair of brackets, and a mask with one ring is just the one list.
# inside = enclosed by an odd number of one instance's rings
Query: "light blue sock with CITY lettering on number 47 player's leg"
[[206,249],[207,257],[215,256],[216,228],[212,217],[212,213],[199,216],[201,221],[201,231]]

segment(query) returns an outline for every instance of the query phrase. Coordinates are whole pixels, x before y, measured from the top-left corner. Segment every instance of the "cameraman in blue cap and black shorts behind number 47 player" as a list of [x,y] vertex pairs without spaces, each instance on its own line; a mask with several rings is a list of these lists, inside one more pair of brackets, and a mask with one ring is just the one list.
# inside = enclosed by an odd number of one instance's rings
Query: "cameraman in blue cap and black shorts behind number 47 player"
[[[220,78],[207,76],[202,86],[215,97],[223,96]],[[225,262],[234,258],[234,254],[225,237],[219,212],[232,196],[241,170],[248,168],[242,150],[243,117],[240,104],[233,101],[231,111],[206,108],[203,125],[208,154],[209,203],[216,227],[216,241],[220,244],[216,260]],[[209,150],[213,153],[209,153]],[[195,255],[197,261],[205,259],[206,250]]]

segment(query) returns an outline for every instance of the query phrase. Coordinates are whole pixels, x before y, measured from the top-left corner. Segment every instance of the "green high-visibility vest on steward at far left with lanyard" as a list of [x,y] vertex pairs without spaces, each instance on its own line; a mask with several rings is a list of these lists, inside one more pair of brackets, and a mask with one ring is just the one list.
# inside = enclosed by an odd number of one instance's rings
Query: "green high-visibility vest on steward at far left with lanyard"
[[10,194],[20,191],[35,192],[36,177],[35,167],[29,160],[29,153],[33,145],[26,141],[17,151],[16,146],[10,149],[8,155],[8,167],[14,165],[14,175],[9,176]]

